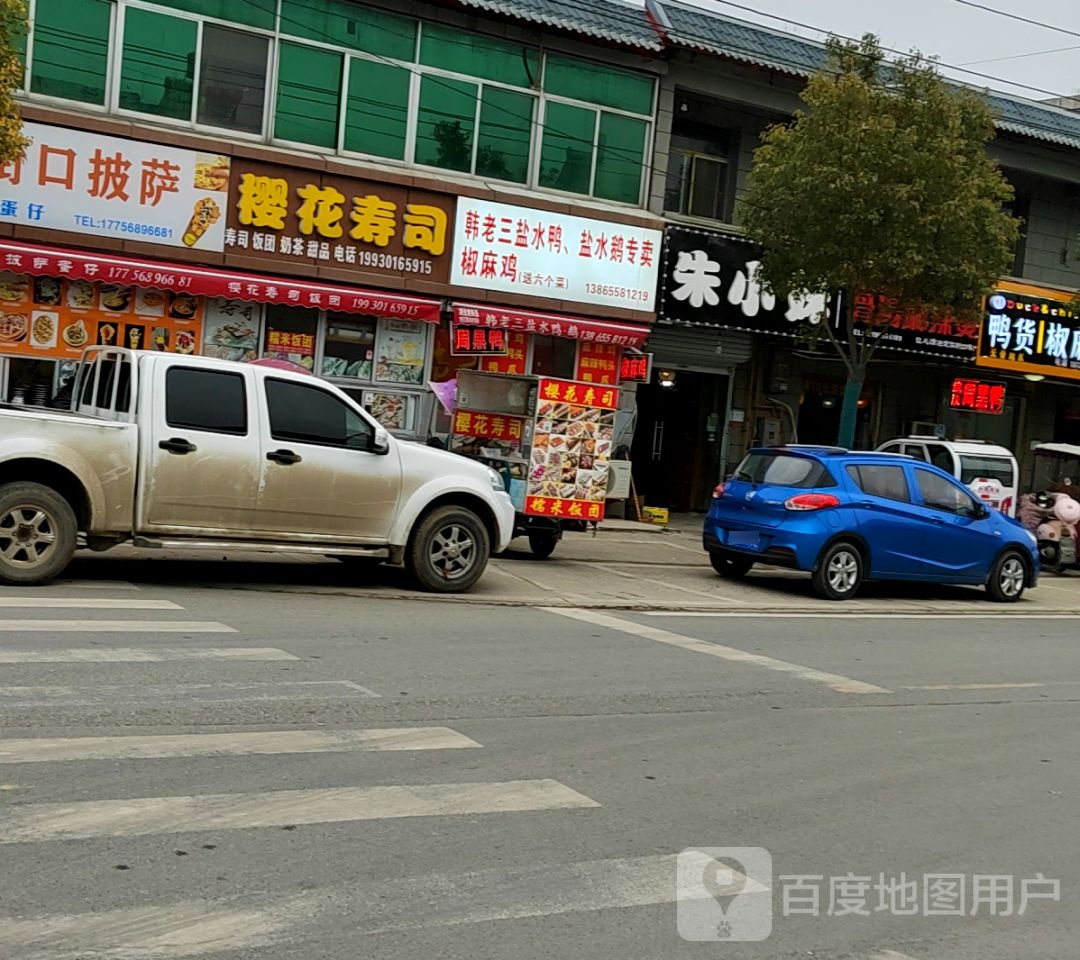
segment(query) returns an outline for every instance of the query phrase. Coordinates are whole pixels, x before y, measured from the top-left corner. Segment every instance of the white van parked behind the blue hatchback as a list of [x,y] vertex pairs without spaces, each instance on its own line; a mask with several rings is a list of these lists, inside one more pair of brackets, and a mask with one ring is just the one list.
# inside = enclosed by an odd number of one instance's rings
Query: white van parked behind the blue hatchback
[[967,484],[987,506],[1016,516],[1020,468],[1012,451],[981,440],[941,440],[906,436],[878,447],[882,452],[905,454],[926,460]]

